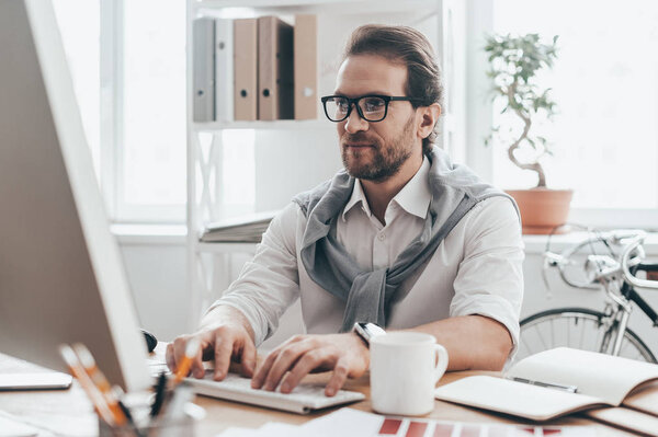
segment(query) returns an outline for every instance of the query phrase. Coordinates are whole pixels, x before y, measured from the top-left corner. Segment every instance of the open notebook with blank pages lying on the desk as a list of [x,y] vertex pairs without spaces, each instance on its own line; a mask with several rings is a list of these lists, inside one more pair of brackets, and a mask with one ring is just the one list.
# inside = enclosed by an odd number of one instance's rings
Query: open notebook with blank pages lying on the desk
[[[570,386],[576,392],[518,382],[513,378],[545,386]],[[438,388],[435,396],[534,421],[622,404],[658,415],[658,403],[654,402],[658,388],[651,384],[655,380],[658,380],[658,365],[558,347],[522,359],[504,378],[463,378]],[[653,388],[643,390],[645,386]]]

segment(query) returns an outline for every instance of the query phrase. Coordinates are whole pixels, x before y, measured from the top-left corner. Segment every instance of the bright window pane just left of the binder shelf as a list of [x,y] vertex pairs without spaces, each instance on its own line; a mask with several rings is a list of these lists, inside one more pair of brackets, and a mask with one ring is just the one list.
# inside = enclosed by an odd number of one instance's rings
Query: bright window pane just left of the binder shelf
[[185,2],[131,0],[123,4],[124,137],[120,203],[182,209],[186,143]]

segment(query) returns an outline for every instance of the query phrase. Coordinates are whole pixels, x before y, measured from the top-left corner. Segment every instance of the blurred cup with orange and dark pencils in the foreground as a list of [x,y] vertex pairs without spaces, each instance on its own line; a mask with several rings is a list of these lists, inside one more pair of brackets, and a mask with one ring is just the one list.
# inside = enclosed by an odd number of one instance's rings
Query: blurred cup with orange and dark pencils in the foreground
[[100,437],[194,436],[196,422],[205,416],[205,411],[192,403],[192,389],[182,382],[189,367],[178,369],[171,380],[160,373],[155,394],[124,395],[121,388],[110,384],[84,345],[61,345],[59,352],[93,404]]

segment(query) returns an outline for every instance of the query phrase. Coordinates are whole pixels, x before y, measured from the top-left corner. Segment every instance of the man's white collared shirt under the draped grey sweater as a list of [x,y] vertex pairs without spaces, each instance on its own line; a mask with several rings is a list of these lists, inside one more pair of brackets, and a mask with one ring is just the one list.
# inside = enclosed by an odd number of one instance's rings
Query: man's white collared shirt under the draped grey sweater
[[[363,269],[393,265],[421,232],[431,200],[427,159],[392,199],[385,222],[372,215],[361,182],[337,222],[341,244]],[[299,257],[306,217],[291,203],[270,225],[254,257],[218,299],[245,313],[260,345],[297,298],[307,333],[339,332],[345,303],[318,286]],[[478,203],[441,242],[433,256],[400,286],[387,329],[408,329],[449,317],[480,314],[502,323],[519,338],[523,297],[523,242],[511,202],[490,197]]]

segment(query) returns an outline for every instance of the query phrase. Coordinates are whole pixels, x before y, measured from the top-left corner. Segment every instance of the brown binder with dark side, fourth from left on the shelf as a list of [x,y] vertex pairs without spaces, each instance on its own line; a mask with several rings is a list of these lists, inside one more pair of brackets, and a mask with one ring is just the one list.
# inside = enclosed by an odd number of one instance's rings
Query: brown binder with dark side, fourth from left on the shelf
[[258,19],[258,118],[293,119],[293,26],[276,16]]

